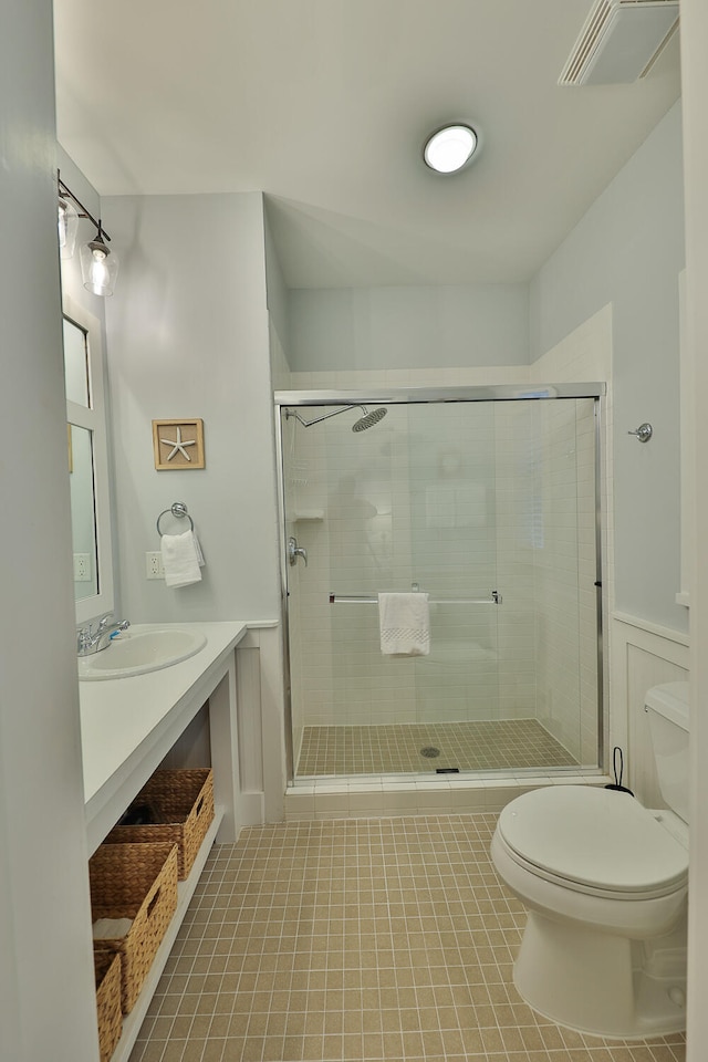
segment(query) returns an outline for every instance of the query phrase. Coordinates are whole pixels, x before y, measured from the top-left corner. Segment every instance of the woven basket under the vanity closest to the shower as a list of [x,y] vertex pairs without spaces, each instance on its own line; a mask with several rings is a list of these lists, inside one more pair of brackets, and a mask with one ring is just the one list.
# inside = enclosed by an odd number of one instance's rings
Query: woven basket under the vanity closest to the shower
[[131,808],[148,805],[162,820],[144,825],[115,826],[108,844],[125,841],[169,841],[178,845],[179,881],[191,870],[207,830],[214,821],[214,772],[155,771]]

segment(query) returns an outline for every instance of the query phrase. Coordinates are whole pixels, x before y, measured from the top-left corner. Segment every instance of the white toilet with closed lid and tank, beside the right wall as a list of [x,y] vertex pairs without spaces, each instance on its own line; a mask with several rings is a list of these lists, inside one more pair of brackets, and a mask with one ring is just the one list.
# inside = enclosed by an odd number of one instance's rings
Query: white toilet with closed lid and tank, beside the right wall
[[581,1032],[636,1038],[685,1028],[688,683],[646,696],[662,795],[550,785],[499,816],[491,855],[529,908],[514,985]]

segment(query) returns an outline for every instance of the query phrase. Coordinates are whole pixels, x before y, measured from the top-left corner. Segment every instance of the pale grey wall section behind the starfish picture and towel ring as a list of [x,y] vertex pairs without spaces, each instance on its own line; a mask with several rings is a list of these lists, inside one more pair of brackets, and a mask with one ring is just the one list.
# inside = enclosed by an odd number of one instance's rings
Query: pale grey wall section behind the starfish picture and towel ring
[[[106,306],[125,616],[274,620],[279,529],[260,195],[103,202],[121,256]],[[206,468],[156,471],[152,420],[201,417]],[[145,577],[158,514],[184,501],[207,561],[179,590]],[[162,529],[186,527],[170,517]]]

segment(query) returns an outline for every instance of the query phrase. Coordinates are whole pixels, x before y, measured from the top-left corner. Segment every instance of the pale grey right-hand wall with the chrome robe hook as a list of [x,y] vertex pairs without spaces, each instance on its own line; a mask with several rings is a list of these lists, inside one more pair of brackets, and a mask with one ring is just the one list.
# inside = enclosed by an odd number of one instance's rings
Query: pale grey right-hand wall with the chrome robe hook
[[[680,104],[531,285],[538,357],[612,303],[616,607],[687,628],[680,586],[679,316],[684,267]],[[626,433],[648,420],[643,446]]]

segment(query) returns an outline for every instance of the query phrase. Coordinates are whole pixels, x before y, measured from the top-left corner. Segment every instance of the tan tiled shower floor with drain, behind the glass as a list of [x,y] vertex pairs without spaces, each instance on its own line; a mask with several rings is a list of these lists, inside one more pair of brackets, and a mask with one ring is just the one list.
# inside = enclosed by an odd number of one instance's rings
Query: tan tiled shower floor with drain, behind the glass
[[577,767],[577,762],[537,719],[305,727],[296,777],[418,773],[455,767],[497,771]]

